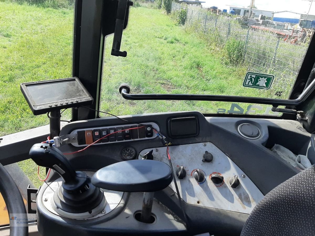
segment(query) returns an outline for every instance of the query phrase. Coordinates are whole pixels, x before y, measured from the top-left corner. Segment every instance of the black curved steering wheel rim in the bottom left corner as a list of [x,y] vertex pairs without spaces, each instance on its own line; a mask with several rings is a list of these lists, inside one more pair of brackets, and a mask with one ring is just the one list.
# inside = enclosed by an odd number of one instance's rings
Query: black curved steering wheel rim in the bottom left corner
[[[7,206],[9,214],[25,214],[26,208],[19,188],[9,172],[0,163],[0,193]],[[11,222],[10,222],[11,225]],[[28,225],[10,226],[10,236],[28,236]]]

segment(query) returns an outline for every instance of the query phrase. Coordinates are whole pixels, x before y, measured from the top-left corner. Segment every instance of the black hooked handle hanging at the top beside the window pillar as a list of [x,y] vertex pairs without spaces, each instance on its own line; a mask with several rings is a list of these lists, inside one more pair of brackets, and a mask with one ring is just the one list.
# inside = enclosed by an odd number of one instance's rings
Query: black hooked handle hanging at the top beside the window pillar
[[123,29],[125,28],[125,21],[127,21],[126,13],[128,14],[129,6],[132,6],[133,2],[129,0],[119,0],[116,16],[116,26],[113,39],[112,55],[117,57],[126,57],[126,51],[120,51],[121,38],[123,36]]

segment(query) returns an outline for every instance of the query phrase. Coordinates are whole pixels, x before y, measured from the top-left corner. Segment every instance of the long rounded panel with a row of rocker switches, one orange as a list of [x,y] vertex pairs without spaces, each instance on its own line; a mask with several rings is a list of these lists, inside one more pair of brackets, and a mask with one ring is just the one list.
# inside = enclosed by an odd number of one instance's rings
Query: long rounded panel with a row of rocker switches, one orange
[[[143,126],[145,125],[145,126]],[[135,140],[146,140],[156,138],[153,128],[160,131],[160,128],[156,123],[148,122],[143,125],[131,124],[128,126],[117,125],[107,127],[93,127],[86,129],[77,129],[71,132],[71,134],[77,134],[78,143],[71,143],[73,146],[81,147],[94,143],[100,138],[99,142],[94,145],[102,145],[108,143],[129,142]],[[138,129],[134,129],[138,128]]]

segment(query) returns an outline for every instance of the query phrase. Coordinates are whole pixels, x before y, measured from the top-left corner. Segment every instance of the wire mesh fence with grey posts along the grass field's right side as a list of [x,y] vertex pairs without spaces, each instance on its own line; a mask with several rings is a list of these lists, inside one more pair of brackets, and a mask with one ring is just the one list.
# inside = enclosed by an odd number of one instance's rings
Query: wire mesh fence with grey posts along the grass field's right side
[[[173,11],[182,8],[182,5],[173,3]],[[218,48],[226,47],[232,39],[241,41],[243,46],[237,53],[241,57],[239,65],[247,67],[248,71],[274,75],[277,79],[273,87],[289,96],[307,51],[306,46],[284,42],[284,37],[241,25],[234,18],[209,15],[200,7],[187,8],[185,26]]]

